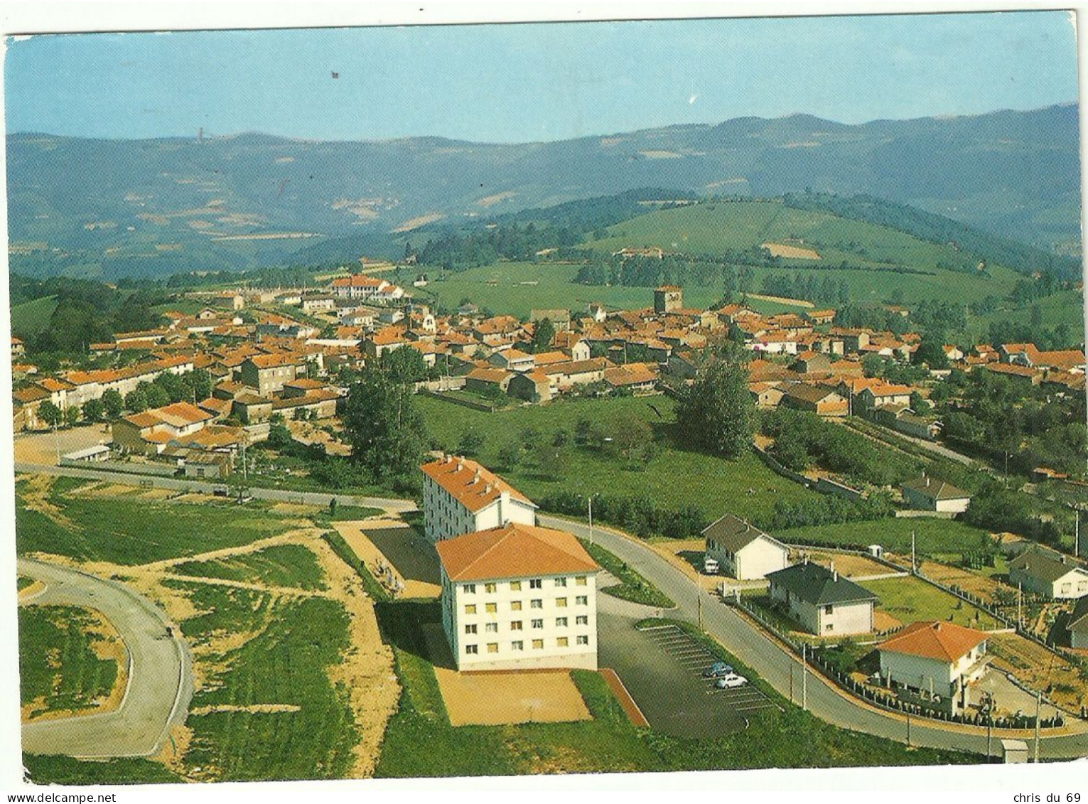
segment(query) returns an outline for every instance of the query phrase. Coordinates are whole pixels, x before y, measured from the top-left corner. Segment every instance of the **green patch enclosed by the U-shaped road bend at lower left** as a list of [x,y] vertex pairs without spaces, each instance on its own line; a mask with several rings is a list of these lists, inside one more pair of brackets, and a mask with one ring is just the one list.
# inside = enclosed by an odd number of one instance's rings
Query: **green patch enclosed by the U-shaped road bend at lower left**
[[92,708],[110,694],[118,663],[91,648],[102,638],[96,624],[74,606],[20,606],[20,694],[24,706],[33,704],[32,717]]

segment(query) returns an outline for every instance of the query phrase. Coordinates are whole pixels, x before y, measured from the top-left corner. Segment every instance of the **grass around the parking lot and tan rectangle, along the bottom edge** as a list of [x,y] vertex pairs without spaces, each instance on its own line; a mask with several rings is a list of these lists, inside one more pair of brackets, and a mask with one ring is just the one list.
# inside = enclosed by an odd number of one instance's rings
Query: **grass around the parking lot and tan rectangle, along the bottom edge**
[[[384,639],[394,647],[404,688],[400,709],[390,721],[379,777],[480,776],[540,772],[622,772],[848,765],[935,765],[969,763],[955,752],[911,750],[889,740],[824,723],[781,696],[729,656],[786,712],[762,718],[761,728],[715,740],[683,740],[631,725],[604,680],[595,672],[572,678],[593,716],[572,723],[462,726],[445,713],[434,670],[426,658],[420,623],[441,617],[437,604],[386,603],[379,606]],[[696,639],[701,639],[696,634]],[[796,739],[783,740],[782,734]]]

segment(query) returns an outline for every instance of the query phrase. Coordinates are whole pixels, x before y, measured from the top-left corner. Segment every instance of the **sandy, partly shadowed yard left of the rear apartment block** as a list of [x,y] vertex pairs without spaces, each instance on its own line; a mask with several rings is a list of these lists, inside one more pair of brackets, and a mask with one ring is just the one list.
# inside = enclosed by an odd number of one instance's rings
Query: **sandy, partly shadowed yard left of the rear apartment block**
[[[404,584],[399,593],[401,597],[437,597],[442,594],[438,554],[407,522],[374,518],[334,522],[333,527],[379,582],[385,583],[392,572],[393,578]],[[383,567],[388,568],[386,572],[381,571]]]

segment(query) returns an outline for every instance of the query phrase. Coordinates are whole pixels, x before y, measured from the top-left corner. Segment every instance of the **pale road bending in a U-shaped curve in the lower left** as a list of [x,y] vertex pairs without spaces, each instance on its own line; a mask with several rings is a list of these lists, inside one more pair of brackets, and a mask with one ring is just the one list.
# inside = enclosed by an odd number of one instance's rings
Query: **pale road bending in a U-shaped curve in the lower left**
[[23,726],[23,750],[103,759],[158,752],[172,726],[184,722],[193,697],[188,645],[166,635],[166,615],[127,586],[67,567],[20,558],[18,573],[46,583],[23,605],[96,608],[128,652],[128,683],[114,712]]

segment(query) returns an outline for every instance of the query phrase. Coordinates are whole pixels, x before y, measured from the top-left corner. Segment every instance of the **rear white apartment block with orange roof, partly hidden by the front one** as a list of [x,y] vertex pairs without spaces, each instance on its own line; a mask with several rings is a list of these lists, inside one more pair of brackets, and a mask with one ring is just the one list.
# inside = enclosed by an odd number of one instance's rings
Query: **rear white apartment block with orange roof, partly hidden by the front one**
[[447,455],[420,470],[423,530],[432,542],[509,522],[536,524],[536,504],[474,460]]

